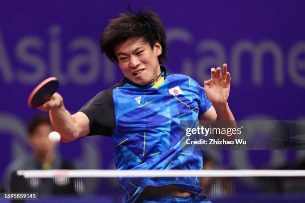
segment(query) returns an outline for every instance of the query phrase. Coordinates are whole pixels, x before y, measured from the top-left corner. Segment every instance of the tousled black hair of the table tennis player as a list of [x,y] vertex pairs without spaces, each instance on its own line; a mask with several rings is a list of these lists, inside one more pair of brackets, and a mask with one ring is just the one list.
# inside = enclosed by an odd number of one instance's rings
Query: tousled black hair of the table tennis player
[[158,56],[159,64],[168,60],[164,26],[159,16],[146,7],[141,7],[138,12],[133,12],[129,7],[127,12],[120,13],[119,17],[112,19],[101,37],[101,51],[112,62],[118,63],[115,46],[133,37],[143,37],[150,43],[151,48],[159,42],[162,47],[162,53]]

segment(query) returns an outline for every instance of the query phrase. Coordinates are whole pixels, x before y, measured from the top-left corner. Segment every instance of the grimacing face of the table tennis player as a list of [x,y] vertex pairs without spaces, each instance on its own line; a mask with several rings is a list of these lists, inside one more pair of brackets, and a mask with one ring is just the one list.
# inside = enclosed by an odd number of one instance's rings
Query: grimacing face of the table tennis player
[[[160,74],[158,56],[161,45],[156,42],[153,48],[143,38],[130,38],[115,46],[115,53],[124,75],[137,85],[148,85],[154,74]],[[156,83],[154,81],[154,83]]]

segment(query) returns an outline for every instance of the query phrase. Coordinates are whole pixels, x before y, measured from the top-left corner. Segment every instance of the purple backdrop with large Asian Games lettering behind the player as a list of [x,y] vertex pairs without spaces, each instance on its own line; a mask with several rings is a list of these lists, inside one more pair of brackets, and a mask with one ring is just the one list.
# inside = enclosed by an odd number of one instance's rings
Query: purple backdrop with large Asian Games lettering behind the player
[[[227,63],[229,105],[235,118],[305,119],[305,3],[299,1],[0,1],[0,178],[3,168],[28,152],[25,126],[38,111],[27,107],[31,90],[56,76],[72,113],[122,78],[101,53],[109,20],[131,3],[149,5],[168,35],[169,72],[209,78]],[[174,3],[173,3],[174,2]],[[80,168],[113,168],[110,138],[60,144]],[[276,167],[305,158],[303,151],[213,151],[222,167]]]

